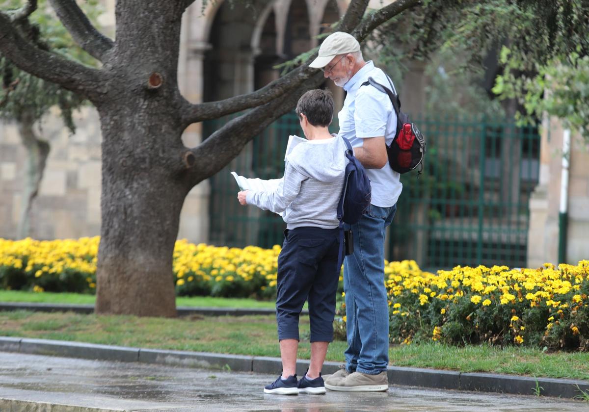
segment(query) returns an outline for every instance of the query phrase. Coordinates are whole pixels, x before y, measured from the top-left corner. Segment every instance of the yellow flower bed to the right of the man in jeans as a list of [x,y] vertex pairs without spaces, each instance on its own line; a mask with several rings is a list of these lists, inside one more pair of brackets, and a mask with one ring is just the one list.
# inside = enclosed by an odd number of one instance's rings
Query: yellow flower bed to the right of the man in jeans
[[391,341],[531,344],[589,350],[589,261],[538,269],[389,264]]

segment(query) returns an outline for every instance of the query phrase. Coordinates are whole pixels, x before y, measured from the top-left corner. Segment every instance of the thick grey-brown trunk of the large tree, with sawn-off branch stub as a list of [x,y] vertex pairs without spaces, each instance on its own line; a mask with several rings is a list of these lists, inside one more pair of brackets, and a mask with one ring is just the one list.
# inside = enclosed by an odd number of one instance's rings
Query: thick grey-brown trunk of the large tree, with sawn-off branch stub
[[[133,2],[118,2],[117,17]],[[107,96],[95,102],[102,130],[98,314],[176,316],[172,260],[184,198],[176,2],[117,25]]]

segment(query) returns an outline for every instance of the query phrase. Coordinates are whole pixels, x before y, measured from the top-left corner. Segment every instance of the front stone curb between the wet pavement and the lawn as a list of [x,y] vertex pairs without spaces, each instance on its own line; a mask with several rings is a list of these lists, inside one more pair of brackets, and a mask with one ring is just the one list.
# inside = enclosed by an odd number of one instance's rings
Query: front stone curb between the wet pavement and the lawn
[[[0,351],[267,374],[276,374],[282,369],[280,358],[153,350],[47,339],[0,337]],[[308,367],[308,360],[298,361],[297,374],[302,376]],[[338,368],[338,363],[326,362],[323,366],[323,374],[334,373]],[[581,395],[581,391],[589,393],[588,381],[570,379],[531,378],[488,373],[460,373],[455,371],[394,366],[388,367],[388,377],[389,383],[394,385],[436,389],[532,395],[534,394],[535,388],[540,386],[542,387],[542,396],[574,398]]]

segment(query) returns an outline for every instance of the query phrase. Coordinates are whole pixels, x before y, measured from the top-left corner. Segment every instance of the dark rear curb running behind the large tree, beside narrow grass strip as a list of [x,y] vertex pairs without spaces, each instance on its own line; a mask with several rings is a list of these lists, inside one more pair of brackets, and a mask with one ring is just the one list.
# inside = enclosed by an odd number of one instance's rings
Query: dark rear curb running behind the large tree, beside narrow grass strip
[[[0,311],[11,310],[31,310],[38,312],[74,312],[74,313],[94,313],[94,305],[74,305],[74,304],[53,304],[53,303],[0,303]],[[180,306],[177,308],[178,316],[188,315],[205,315],[205,316],[246,316],[246,315],[275,315],[274,309],[244,309],[244,308],[211,308],[211,307],[191,307]],[[303,315],[308,314],[308,310],[301,312]]]

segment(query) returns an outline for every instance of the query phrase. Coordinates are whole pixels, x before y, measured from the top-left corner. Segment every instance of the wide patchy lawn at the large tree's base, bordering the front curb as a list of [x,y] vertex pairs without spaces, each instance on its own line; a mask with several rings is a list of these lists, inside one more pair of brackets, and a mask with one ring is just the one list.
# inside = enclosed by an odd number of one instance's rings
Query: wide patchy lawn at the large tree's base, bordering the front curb
[[[0,312],[0,335],[214,353],[279,357],[274,316],[139,318],[74,313]],[[300,325],[300,358],[309,358],[309,318]],[[329,345],[327,360],[342,361],[346,344]],[[394,346],[391,364],[589,381],[589,353],[438,343]]]

